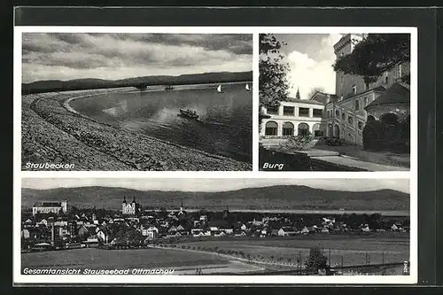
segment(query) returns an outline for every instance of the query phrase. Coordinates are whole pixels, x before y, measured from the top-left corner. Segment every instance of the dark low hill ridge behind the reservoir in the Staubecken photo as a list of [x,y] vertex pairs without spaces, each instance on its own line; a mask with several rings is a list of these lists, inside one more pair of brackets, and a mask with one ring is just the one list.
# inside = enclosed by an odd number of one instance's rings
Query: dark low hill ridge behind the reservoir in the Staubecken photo
[[245,82],[253,80],[253,72],[219,72],[203,74],[182,74],[179,76],[144,76],[120,80],[74,79],[69,81],[45,80],[21,85],[22,93],[40,93],[83,89],[105,89],[150,85],[183,85],[222,82]]

